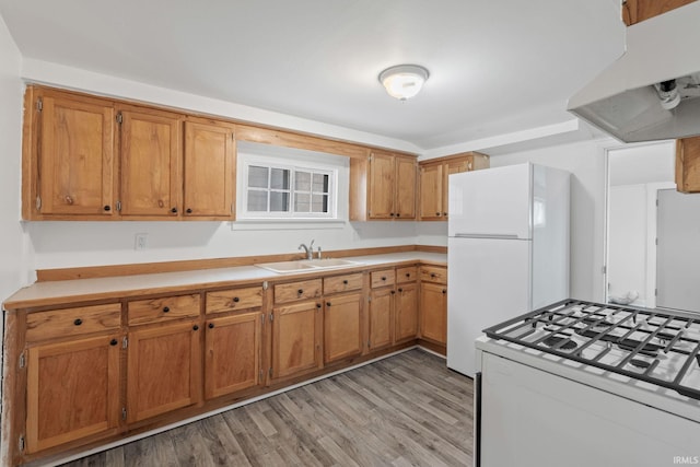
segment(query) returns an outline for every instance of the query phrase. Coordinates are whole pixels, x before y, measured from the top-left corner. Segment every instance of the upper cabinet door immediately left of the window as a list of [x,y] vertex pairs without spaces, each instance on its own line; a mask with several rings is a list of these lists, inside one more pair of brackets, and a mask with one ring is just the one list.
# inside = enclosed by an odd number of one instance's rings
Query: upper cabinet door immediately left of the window
[[185,122],[185,217],[233,219],[233,125]]

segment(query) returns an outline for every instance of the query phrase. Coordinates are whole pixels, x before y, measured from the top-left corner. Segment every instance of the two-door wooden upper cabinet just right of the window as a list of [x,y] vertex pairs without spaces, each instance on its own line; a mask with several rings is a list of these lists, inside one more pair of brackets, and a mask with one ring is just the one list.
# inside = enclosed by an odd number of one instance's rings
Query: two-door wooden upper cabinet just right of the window
[[372,151],[350,160],[350,220],[416,219],[415,156]]

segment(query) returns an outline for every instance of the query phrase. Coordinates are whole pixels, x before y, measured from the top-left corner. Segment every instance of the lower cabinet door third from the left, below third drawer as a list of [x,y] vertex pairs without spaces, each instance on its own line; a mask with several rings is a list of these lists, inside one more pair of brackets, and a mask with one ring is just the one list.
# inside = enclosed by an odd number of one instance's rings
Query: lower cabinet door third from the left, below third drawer
[[205,397],[260,383],[260,312],[209,319],[206,325]]

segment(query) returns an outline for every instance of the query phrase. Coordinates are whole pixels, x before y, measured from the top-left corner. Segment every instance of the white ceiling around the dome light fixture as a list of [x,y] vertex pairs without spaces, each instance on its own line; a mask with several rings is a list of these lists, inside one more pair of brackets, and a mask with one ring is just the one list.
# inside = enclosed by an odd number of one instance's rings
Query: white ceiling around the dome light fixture
[[[430,150],[572,118],[622,51],[619,0],[0,0],[25,58]],[[401,103],[377,81],[430,70]]]

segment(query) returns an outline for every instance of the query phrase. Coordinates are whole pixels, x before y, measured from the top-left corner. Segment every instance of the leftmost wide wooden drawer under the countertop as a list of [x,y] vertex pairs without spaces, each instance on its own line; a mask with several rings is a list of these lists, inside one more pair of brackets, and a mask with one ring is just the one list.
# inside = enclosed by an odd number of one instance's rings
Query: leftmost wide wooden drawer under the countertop
[[26,316],[26,340],[36,341],[98,332],[117,329],[120,325],[121,305],[119,303],[30,313]]

